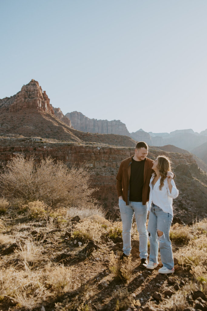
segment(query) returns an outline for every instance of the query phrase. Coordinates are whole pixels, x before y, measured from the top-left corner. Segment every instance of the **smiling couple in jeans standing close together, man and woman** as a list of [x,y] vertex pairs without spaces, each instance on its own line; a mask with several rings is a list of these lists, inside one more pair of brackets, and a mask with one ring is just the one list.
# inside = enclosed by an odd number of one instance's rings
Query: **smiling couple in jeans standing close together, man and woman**
[[[170,160],[158,156],[155,161],[148,159],[148,146],[138,142],[135,154],[120,164],[117,179],[119,209],[123,224],[123,257],[131,251],[131,228],[135,214],[139,232],[140,267],[154,269],[158,265],[158,247],[163,267],[159,273],[173,273],[174,262],[169,230],[173,220],[173,198],[178,189],[173,181]],[[149,201],[149,202],[148,202]],[[147,211],[150,211],[148,233],[146,230]],[[147,240],[150,240],[150,257],[147,261]]]

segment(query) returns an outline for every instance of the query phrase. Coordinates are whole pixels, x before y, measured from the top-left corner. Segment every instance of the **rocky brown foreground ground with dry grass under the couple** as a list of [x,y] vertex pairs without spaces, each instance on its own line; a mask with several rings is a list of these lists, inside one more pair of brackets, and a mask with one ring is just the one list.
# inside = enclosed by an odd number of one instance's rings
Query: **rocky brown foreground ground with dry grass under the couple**
[[[0,308],[2,311],[40,309],[46,311],[193,311],[207,309],[207,292],[202,284],[196,281],[191,271],[193,263],[184,264],[181,259],[181,254],[187,247],[183,243],[173,242],[175,261],[173,275],[159,274],[158,269],[161,264],[155,270],[142,269],[139,267],[139,238],[135,224],[133,224],[131,258],[124,262],[125,278],[117,277],[113,273],[113,267],[115,263],[120,263],[118,257],[122,249],[122,239],[120,233],[116,238],[110,235],[108,233],[110,231],[107,232],[107,226],[112,226],[113,230],[117,230],[117,226],[121,228],[121,224],[119,226],[117,222],[110,223],[98,216],[96,220],[94,215],[92,219],[98,223],[99,229],[97,230],[96,227],[96,231],[101,239],[83,241],[83,235],[79,235],[78,238],[74,237],[74,230],[77,225],[83,224],[83,221],[86,222],[87,218],[80,220],[79,216],[71,218],[65,216],[64,219],[65,222],[58,222],[57,218],[52,219],[52,217],[34,221],[28,220],[26,215],[17,216],[12,211],[1,217],[1,232],[4,239],[7,236],[10,240],[5,243],[0,235],[0,267],[3,275],[10,274],[13,269],[10,283],[15,288],[13,294],[5,295],[8,288],[5,288],[5,280],[2,281],[0,276],[2,285]],[[91,222],[89,217],[89,230],[92,230]],[[103,226],[106,229],[103,229]],[[191,239],[198,239],[202,236],[205,241],[203,245],[206,248],[206,222],[200,226],[203,231],[199,231],[201,230],[198,229],[199,224],[196,224],[194,227],[186,227],[186,232],[191,232]],[[11,241],[12,238],[15,242]],[[26,241],[30,241],[33,245],[30,255],[34,255],[34,245],[38,248],[38,253],[30,259],[20,251],[20,245],[29,245]],[[206,258],[202,259],[200,265],[205,267]],[[38,272],[43,274],[48,262],[51,262],[53,266],[49,266],[49,274],[41,279]],[[64,269],[64,273],[70,271],[70,280],[64,279],[64,281],[60,275],[55,275],[52,270],[54,267]],[[42,291],[39,289],[39,296],[36,296],[34,289],[30,292],[29,283],[26,283],[24,299],[20,299],[21,293],[15,298],[15,293],[18,292],[15,284],[16,277],[17,275],[20,277],[21,273],[25,275],[25,278],[32,275],[34,281],[39,278],[38,286],[44,288]],[[52,283],[47,279],[48,277],[49,279],[53,277]],[[61,282],[60,288],[54,285],[58,281]],[[35,287],[34,284],[31,286]],[[30,299],[32,299],[32,304],[30,304]]]

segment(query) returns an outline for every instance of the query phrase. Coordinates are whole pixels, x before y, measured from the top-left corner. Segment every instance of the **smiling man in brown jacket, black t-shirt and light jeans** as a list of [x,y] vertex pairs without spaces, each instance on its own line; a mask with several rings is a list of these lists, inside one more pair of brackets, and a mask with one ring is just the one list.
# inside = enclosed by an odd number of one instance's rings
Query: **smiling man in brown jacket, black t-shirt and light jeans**
[[135,214],[137,230],[139,232],[140,267],[147,266],[147,201],[149,200],[149,183],[152,174],[153,160],[148,159],[148,146],[145,142],[138,142],[135,154],[120,164],[116,176],[119,209],[123,224],[123,257],[131,251],[131,228],[133,214]]

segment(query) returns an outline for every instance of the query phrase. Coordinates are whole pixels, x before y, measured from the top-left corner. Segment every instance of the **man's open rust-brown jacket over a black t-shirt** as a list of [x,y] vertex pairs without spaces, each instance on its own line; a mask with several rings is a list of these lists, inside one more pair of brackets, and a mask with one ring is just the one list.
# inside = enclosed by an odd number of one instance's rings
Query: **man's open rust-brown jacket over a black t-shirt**
[[[127,158],[123,160],[120,164],[118,174],[116,176],[116,188],[118,196],[122,196],[123,200],[126,202],[126,205],[129,205],[129,179],[131,174],[131,164],[132,158]],[[150,179],[151,174],[154,172],[152,170],[153,160],[146,158],[144,165],[144,186],[142,188],[142,204],[145,205],[149,201],[150,194]]]

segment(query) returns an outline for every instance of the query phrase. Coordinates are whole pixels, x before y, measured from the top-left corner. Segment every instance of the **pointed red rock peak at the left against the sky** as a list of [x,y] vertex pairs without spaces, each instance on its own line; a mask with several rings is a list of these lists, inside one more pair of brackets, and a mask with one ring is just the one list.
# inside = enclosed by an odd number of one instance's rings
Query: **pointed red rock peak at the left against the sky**
[[50,106],[50,99],[45,91],[39,86],[38,81],[32,79],[28,84],[22,86],[21,91],[11,97],[0,100],[2,111],[16,112],[26,108],[40,109],[54,114]]

